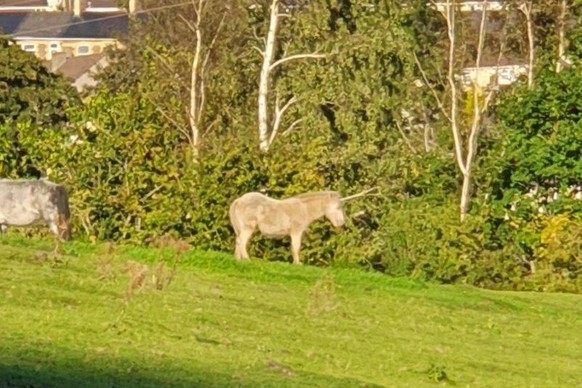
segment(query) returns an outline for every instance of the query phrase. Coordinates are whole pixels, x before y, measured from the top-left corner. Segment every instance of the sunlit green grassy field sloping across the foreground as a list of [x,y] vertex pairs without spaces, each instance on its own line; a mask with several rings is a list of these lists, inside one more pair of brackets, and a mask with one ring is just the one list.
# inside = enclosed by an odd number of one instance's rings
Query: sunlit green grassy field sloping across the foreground
[[582,387],[579,295],[50,249],[0,237],[0,386]]

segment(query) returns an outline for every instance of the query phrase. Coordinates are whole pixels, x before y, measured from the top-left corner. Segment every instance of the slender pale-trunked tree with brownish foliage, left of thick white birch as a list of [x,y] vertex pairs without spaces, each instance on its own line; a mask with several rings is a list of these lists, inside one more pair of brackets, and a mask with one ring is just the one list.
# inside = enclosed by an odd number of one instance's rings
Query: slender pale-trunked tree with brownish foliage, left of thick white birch
[[235,0],[142,6],[154,11],[131,26],[125,50],[110,53],[112,65],[101,73],[99,89],[146,95],[198,160],[204,135],[241,117],[228,101],[230,94],[246,93],[236,77],[249,78],[234,70],[247,39],[245,9]]

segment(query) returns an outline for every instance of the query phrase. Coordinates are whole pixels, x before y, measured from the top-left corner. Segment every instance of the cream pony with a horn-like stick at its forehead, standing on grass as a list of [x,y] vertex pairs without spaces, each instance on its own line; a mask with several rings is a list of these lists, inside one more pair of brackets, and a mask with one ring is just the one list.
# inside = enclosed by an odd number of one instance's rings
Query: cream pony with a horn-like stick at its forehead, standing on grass
[[[366,192],[369,192],[368,190]],[[301,239],[309,225],[322,217],[333,226],[345,224],[343,202],[364,193],[341,198],[335,191],[312,192],[287,199],[273,199],[261,193],[247,193],[230,205],[230,222],[236,233],[235,257],[248,260],[247,245],[258,229],[271,238],[291,237],[293,264],[301,264]]]

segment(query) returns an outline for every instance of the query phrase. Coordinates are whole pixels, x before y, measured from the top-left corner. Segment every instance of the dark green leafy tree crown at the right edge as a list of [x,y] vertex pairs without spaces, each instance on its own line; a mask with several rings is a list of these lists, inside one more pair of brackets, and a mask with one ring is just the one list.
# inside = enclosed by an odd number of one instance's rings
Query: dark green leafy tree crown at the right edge
[[570,69],[540,78],[534,90],[517,89],[498,103],[503,157],[497,159],[494,190],[523,190],[548,180],[564,186],[582,176],[580,74]]

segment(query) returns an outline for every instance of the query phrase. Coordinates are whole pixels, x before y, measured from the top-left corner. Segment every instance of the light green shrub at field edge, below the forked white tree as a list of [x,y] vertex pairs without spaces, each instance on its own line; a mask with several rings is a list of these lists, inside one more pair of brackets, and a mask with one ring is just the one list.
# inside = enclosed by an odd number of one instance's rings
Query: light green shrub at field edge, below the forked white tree
[[459,221],[453,200],[408,201],[387,212],[385,222],[382,266],[389,274],[491,288],[511,288],[524,274],[516,252],[494,246],[483,218]]

